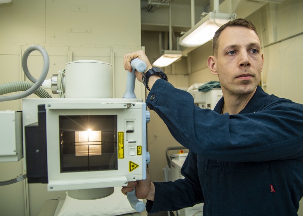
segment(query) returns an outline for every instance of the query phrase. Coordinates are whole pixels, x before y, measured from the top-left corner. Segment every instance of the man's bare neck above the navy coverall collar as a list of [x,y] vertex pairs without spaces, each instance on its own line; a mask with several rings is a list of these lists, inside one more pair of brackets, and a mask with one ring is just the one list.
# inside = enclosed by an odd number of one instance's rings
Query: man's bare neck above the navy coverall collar
[[235,115],[241,112],[247,105],[248,101],[252,98],[255,94],[257,88],[250,93],[245,95],[234,95],[228,94],[223,92],[224,96],[224,106],[223,106],[223,113],[229,113],[230,115]]

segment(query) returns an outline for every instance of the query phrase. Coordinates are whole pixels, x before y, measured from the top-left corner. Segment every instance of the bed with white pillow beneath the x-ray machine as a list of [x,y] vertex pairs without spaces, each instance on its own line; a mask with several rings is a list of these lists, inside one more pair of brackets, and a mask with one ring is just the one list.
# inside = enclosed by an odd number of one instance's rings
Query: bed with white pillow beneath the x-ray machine
[[[146,200],[141,200],[146,203]],[[38,216],[147,216],[137,212],[122,194],[121,187],[115,187],[112,195],[94,200],[79,200],[66,195],[65,200],[46,200]]]

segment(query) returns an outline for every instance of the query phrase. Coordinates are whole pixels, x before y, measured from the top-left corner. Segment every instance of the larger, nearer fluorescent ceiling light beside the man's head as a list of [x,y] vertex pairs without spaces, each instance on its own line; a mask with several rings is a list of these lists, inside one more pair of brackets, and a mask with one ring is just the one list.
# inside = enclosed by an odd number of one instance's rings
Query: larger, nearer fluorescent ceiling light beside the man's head
[[211,11],[180,38],[179,44],[184,47],[201,46],[214,37],[221,25],[234,18],[235,14]]

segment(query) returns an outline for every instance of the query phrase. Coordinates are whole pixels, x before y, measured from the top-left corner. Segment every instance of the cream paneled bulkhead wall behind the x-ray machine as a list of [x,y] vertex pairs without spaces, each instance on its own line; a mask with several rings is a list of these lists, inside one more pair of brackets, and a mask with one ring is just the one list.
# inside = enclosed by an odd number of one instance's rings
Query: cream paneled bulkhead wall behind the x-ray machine
[[[127,75],[123,56],[142,49],[140,0],[13,0],[0,4],[0,27],[1,83],[28,81],[21,57],[27,47],[39,44],[50,59],[47,79],[69,61],[104,61],[114,66],[115,97],[122,98]],[[40,76],[42,65],[42,56],[34,51],[28,58],[33,77]],[[138,98],[145,97],[141,85],[135,91]],[[2,102],[0,110],[7,109],[20,110],[21,100]],[[0,163],[1,181],[22,172],[22,160]],[[46,199],[65,197],[65,191],[50,193],[46,184],[25,181],[0,187],[0,193],[6,197],[0,203],[1,215],[36,216]]]

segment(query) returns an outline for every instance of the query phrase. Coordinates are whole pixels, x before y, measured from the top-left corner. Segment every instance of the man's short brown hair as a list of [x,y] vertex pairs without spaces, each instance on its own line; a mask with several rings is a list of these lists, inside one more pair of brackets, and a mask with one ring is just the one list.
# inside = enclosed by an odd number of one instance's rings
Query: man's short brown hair
[[[243,26],[245,28],[249,28],[249,29],[255,31],[255,33],[258,35],[256,27],[254,24],[252,24],[251,21],[247,21],[246,19],[241,19],[241,18],[231,20],[228,23],[225,23],[224,25],[222,25],[215,33],[215,36],[214,36],[213,42],[212,42],[212,53],[214,56],[218,55],[219,37],[220,37],[221,32],[225,28],[233,27],[233,26]],[[258,35],[258,37],[259,37],[259,35]]]

